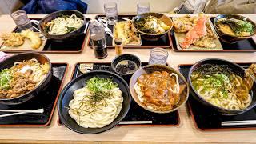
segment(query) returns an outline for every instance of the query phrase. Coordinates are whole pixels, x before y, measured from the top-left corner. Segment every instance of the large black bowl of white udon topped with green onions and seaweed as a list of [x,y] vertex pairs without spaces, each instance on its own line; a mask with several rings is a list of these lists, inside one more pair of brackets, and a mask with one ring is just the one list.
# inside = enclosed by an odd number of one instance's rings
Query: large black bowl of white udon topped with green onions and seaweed
[[98,134],[125,118],[130,101],[129,87],[124,79],[109,71],[95,70],[66,85],[58,99],[58,115],[70,130]]

